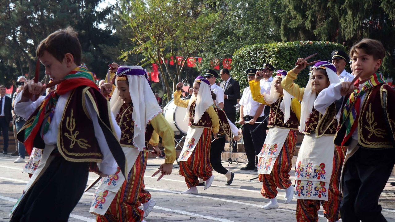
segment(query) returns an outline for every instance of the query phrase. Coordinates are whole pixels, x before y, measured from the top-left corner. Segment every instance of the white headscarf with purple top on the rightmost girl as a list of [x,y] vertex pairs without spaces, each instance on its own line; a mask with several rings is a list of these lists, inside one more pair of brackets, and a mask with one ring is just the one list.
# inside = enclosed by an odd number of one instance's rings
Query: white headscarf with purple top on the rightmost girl
[[[314,64],[312,70],[314,71],[316,69],[325,69],[326,74],[328,75],[329,84],[340,83],[339,77],[336,74],[336,67],[333,66],[333,64],[329,62],[317,62]],[[312,71],[309,74],[308,83],[305,88],[305,93],[303,94],[299,132],[303,132],[305,130],[306,121],[313,110],[314,101],[317,97],[317,93],[312,90],[311,78]]]

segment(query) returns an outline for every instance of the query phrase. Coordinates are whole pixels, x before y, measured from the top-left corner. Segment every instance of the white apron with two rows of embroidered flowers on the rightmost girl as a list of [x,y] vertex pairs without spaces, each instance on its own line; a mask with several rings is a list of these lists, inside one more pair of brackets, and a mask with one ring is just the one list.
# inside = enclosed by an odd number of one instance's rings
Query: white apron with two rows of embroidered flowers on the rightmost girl
[[328,200],[329,182],[333,171],[334,136],[303,138],[296,160],[295,198]]

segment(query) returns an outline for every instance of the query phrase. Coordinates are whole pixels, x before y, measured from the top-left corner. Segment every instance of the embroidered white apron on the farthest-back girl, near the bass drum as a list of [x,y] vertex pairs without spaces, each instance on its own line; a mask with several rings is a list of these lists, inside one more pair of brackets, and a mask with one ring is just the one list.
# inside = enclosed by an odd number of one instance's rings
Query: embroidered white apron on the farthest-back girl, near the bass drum
[[184,142],[184,146],[182,147],[182,151],[178,158],[178,161],[187,161],[188,158],[194,152],[196,144],[198,144],[201,134],[203,133],[203,127],[193,127],[190,126],[188,128],[188,132],[186,133],[186,139]]

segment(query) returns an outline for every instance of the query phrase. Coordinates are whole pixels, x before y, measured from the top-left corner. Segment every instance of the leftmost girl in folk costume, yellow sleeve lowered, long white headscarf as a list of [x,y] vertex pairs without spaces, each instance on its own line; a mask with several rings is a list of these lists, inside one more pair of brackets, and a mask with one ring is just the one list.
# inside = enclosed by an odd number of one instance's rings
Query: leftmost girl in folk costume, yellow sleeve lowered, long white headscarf
[[[97,221],[143,221],[145,212],[139,206],[141,201],[149,203],[150,199],[143,181],[146,147],[154,130],[162,136],[165,147],[165,164],[160,166],[162,174],[169,175],[173,169],[174,133],[147,80],[147,72],[141,66],[120,66],[117,70],[117,90],[111,97],[110,108],[122,132],[120,144],[126,156],[128,176],[126,180],[118,170],[101,179],[90,207]],[[104,96],[111,90],[112,83],[102,85]]]

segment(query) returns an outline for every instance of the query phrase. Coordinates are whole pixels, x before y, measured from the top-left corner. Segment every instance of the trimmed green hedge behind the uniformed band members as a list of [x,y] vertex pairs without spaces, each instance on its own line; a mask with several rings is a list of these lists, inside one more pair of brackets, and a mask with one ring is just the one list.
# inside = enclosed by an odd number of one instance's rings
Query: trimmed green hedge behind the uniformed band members
[[[327,41],[293,41],[245,46],[233,54],[231,76],[239,81],[242,91],[248,86],[245,70],[249,68],[262,68],[263,63],[268,62],[276,70],[289,71],[295,67],[297,58],[306,58],[318,53],[308,62],[327,60],[334,50],[346,51],[346,48],[339,43]],[[350,71],[349,68],[348,71]],[[295,83],[305,87],[308,82],[308,73],[308,68],[299,73]]]

